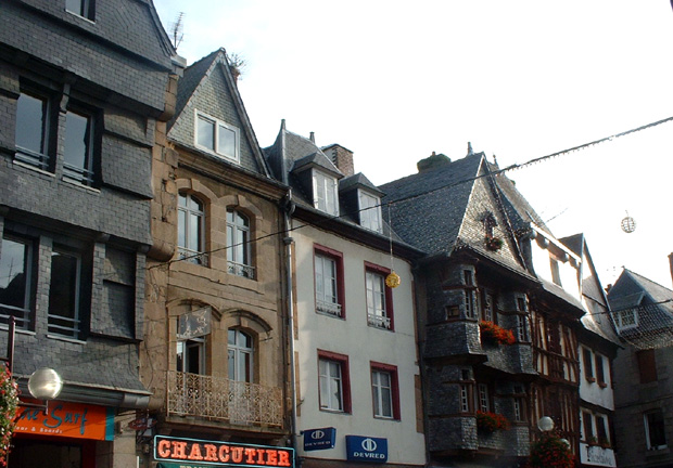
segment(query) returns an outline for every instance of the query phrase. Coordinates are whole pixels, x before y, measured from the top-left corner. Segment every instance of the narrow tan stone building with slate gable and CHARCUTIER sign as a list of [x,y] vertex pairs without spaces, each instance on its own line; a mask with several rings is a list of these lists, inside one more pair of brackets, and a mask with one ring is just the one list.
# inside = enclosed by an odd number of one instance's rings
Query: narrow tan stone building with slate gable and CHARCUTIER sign
[[224,50],[185,70],[164,136],[141,354],[152,422],[138,450],[145,466],[290,466],[288,190],[269,177]]

